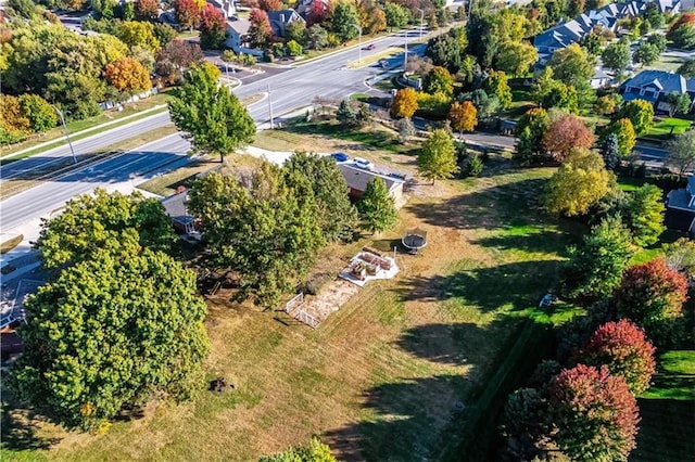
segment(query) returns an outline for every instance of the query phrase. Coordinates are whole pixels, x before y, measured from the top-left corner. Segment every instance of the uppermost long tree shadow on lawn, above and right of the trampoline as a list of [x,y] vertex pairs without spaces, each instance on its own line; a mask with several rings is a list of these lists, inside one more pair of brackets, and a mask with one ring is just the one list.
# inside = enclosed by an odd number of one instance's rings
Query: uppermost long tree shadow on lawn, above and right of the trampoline
[[[408,209],[426,223],[454,229],[498,229],[501,222],[538,213],[538,195],[544,179],[494,185],[484,190],[462,193],[440,203],[410,204]],[[529,221],[529,215],[523,222]]]

